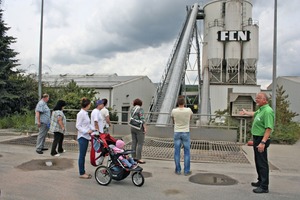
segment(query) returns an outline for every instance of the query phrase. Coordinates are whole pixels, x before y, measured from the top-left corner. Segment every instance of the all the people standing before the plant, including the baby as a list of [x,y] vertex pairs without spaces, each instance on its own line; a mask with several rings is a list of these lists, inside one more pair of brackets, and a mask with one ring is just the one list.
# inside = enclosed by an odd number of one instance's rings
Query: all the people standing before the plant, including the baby
[[[36,152],[42,154],[47,148],[44,147],[45,136],[49,130],[54,133],[54,141],[52,145],[51,155],[59,155],[63,153],[62,148],[63,133],[65,132],[66,119],[62,112],[66,103],[62,100],[58,101],[52,112],[50,122],[50,109],[47,106],[49,95],[44,94],[42,99],[36,106],[36,123],[39,127],[39,135],[37,138]],[[274,130],[274,111],[268,104],[267,94],[260,92],[255,98],[258,110],[247,111],[242,109],[241,115],[248,115],[253,117],[253,123],[251,133],[253,137],[253,151],[255,166],[257,171],[257,181],[252,182],[251,186],[256,187],[253,189],[254,193],[268,193],[269,192],[269,164],[267,149],[270,145],[270,135]],[[85,156],[88,148],[91,134],[94,130],[98,130],[101,133],[108,133],[110,126],[109,113],[105,108],[107,104],[106,99],[98,100],[96,102],[96,108],[91,113],[91,120],[88,115],[88,110],[91,106],[89,99],[83,98],[81,100],[81,110],[77,114],[76,128],[78,130],[78,144],[79,144],[79,174],[80,178],[91,178],[90,174],[85,172]],[[174,123],[174,162],[175,173],[181,174],[180,165],[180,151],[181,145],[184,149],[184,175],[190,175],[190,120],[192,118],[192,110],[185,106],[185,97],[179,96],[177,99],[178,107],[174,108],[171,112],[171,117]],[[142,101],[135,99],[133,101],[133,108],[130,111],[131,117],[143,122],[141,129],[131,128],[132,136],[132,154],[134,159],[120,158],[129,167],[136,166],[137,163],[145,163],[141,160],[142,149],[145,140],[145,133],[147,132],[147,126],[145,124],[144,110],[141,107]],[[103,112],[102,112],[103,110]],[[50,124],[50,126],[49,126]],[[56,152],[56,146],[58,145],[58,153]],[[117,141],[115,151],[122,152],[125,143],[121,140]]]

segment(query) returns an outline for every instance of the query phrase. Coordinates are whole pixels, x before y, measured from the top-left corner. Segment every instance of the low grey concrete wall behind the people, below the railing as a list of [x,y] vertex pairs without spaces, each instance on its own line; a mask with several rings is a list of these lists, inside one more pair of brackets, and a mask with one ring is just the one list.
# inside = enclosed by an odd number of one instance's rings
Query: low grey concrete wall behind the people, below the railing
[[[67,132],[69,134],[77,134],[75,122],[67,122]],[[130,135],[130,126],[113,124],[110,134],[115,137],[128,136]],[[150,125],[148,126],[147,136],[159,138],[173,138],[173,127],[156,127],[155,125]],[[191,139],[236,142],[237,130],[193,127],[191,128]]]

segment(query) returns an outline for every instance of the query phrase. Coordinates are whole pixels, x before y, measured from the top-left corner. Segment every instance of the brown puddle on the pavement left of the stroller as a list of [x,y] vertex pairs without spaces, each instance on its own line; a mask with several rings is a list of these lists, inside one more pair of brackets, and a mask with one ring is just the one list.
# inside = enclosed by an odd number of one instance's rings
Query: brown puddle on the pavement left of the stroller
[[24,171],[34,170],[65,170],[73,168],[74,161],[67,158],[57,159],[43,159],[43,160],[31,160],[26,163],[22,163],[16,168]]

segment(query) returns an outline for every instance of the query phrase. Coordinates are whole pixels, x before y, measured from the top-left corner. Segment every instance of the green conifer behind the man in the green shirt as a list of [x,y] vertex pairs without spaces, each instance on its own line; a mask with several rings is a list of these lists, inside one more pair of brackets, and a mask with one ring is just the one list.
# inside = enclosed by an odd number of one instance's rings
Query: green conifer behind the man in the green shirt
[[[289,110],[290,102],[287,100],[288,95],[285,92],[283,86],[277,86],[276,123],[271,139],[274,143],[294,144],[300,137],[300,127],[292,120],[299,114]],[[271,101],[270,105],[272,105]]]

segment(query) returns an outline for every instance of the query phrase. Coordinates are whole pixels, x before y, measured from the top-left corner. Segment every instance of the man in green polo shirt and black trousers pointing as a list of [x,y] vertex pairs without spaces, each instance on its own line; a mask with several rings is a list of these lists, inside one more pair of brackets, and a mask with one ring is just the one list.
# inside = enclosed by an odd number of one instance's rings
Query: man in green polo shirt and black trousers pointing
[[270,145],[270,134],[274,130],[274,111],[268,104],[267,94],[260,92],[255,98],[259,109],[256,112],[242,110],[242,115],[254,116],[251,133],[253,135],[253,150],[257,182],[252,182],[254,193],[269,192],[269,164],[267,148]]

